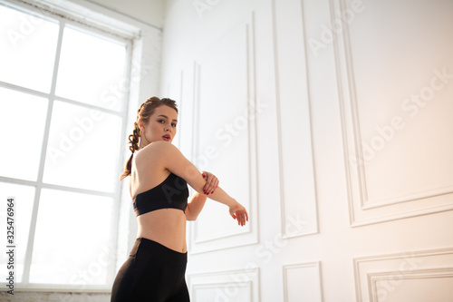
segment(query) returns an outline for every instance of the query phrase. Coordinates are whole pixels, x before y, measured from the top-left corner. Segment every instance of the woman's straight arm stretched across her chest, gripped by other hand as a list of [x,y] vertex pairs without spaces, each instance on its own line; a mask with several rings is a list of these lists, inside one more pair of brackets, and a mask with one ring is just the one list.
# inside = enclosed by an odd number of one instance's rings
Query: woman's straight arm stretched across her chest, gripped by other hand
[[[206,180],[201,176],[201,172],[197,167],[188,161],[176,146],[168,141],[154,141],[147,149],[149,149],[149,152],[152,152],[153,157],[156,156],[156,158],[159,158],[159,162],[163,165],[162,168],[168,169],[173,174],[186,180],[190,187],[198,191],[198,193],[203,194],[203,187],[205,186]],[[234,219],[237,219],[239,225],[245,225],[246,221],[248,221],[246,208],[226,194],[226,191],[220,187],[214,193],[209,194],[208,198],[225,204],[229,208],[230,215]]]

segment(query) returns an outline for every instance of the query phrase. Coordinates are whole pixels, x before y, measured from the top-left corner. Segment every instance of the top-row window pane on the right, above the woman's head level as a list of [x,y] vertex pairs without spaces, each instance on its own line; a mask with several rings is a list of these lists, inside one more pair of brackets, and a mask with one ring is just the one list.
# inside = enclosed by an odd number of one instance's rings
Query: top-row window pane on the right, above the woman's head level
[[56,94],[119,111],[125,62],[124,45],[65,27]]

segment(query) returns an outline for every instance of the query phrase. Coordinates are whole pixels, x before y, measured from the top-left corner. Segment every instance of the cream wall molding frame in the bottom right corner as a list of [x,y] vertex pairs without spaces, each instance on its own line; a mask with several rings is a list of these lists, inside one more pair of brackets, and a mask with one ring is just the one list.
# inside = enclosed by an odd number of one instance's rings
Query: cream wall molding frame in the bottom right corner
[[380,302],[403,290],[404,280],[426,280],[426,289],[432,290],[428,282],[452,278],[453,248],[354,258],[353,263],[357,301]]

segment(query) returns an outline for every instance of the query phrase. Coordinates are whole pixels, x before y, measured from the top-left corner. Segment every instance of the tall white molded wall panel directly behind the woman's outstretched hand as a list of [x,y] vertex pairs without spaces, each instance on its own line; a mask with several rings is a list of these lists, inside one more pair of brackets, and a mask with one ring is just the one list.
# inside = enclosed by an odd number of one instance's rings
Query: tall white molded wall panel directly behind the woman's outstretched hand
[[250,220],[246,227],[237,227],[225,205],[208,200],[203,214],[190,228],[191,254],[257,242],[254,26],[252,14],[210,44],[194,63],[193,121],[197,135],[193,159],[198,169],[213,169],[222,176],[220,185],[246,207]]

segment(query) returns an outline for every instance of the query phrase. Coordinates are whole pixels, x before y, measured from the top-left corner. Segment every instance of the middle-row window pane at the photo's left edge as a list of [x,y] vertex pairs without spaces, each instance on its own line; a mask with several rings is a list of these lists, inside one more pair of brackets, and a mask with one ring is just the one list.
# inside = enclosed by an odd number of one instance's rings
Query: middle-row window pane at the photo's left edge
[[36,180],[47,102],[0,87],[0,175]]

